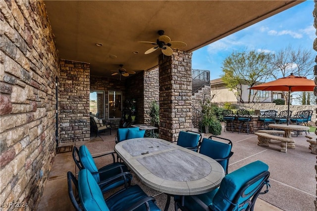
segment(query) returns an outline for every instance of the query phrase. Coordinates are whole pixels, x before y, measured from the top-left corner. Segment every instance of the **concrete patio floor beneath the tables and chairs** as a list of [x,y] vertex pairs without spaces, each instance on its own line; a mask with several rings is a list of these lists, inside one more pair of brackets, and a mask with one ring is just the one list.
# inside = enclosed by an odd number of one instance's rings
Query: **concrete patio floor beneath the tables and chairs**
[[[80,143],[70,143],[64,145],[87,145],[94,155],[112,151],[115,145],[115,130],[112,135],[101,134],[90,141]],[[204,137],[211,134],[203,133]],[[312,132],[309,134],[316,139]],[[288,149],[287,153],[281,153],[280,142],[272,141],[269,147],[257,145],[255,134],[224,132],[220,137],[225,137],[233,142],[234,152],[229,162],[229,172],[247,165],[253,161],[261,160],[269,166],[270,185],[269,192],[260,195],[255,211],[314,211],[314,200],[316,199],[316,155],[311,154],[308,149],[309,143],[306,141],[305,132],[295,138],[295,149]],[[107,160],[97,161],[100,168],[107,164]],[[38,206],[38,211],[70,211],[74,210],[67,192],[67,171],[78,173],[71,152],[57,154],[49,178],[47,180],[43,196]],[[133,177],[132,184],[139,184],[141,188],[151,196],[159,194],[158,191],[143,185],[137,178]],[[115,191],[115,190],[114,190]],[[107,197],[107,196],[105,196]],[[166,196],[159,194],[155,196],[158,206],[163,209]],[[174,210],[173,200],[171,200],[169,211]]]

